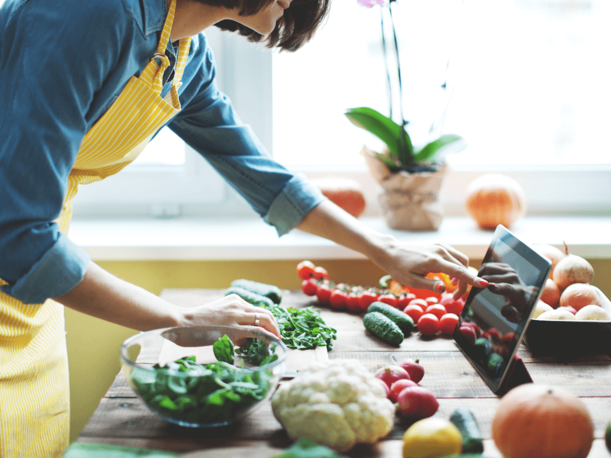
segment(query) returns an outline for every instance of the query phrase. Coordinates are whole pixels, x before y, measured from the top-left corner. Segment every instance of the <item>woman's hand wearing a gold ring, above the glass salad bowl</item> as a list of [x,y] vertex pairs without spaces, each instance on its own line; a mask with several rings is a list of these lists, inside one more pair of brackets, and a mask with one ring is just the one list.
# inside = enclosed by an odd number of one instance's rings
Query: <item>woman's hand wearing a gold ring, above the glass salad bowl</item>
[[229,337],[236,343],[247,337],[256,337],[252,331],[280,338],[280,329],[269,310],[252,306],[235,294],[197,307],[182,307],[181,312],[185,317],[182,326],[234,327],[235,331]]

